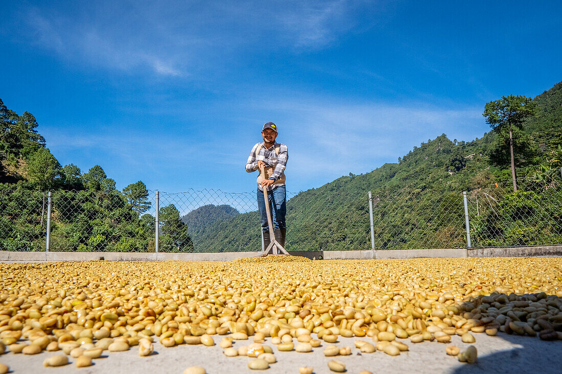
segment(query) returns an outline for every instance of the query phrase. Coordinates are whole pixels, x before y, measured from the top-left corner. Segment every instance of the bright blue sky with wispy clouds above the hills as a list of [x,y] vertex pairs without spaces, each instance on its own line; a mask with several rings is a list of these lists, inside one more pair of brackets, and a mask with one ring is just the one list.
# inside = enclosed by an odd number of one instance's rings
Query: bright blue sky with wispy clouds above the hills
[[0,98],[62,165],[117,187],[252,191],[261,125],[287,189],[488,131],[484,104],[562,80],[562,2],[18,1],[0,14]]

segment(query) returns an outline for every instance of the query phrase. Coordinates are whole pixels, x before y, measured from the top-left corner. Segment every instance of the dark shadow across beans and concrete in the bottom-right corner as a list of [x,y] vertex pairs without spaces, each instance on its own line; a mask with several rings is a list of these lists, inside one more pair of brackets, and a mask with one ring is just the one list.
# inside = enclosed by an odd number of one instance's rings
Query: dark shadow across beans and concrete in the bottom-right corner
[[[497,294],[497,297],[500,297],[500,295],[504,295],[506,298],[509,298],[509,295],[506,294]],[[532,300],[537,298],[537,295],[539,294],[518,295],[518,300],[527,301],[529,302],[529,304],[531,304],[533,303]],[[498,304],[484,303],[486,301],[489,301],[490,300],[489,298],[490,297],[485,297],[485,296],[474,298],[473,302],[463,303],[463,307],[466,310],[471,306],[474,306],[475,308],[472,309],[472,312],[475,312],[476,309],[482,308],[483,304],[490,305],[491,307],[499,307],[500,305],[505,306],[509,304],[509,303],[498,303]],[[547,300],[547,304],[552,302],[558,305],[558,307],[556,308],[559,311],[562,307],[562,298],[556,297],[555,295],[547,295],[545,299],[541,299],[541,300]],[[537,300],[537,301],[541,302],[541,300]],[[525,308],[528,307],[517,307],[517,308],[513,308],[512,311],[518,313],[525,312]],[[531,309],[527,309],[527,311],[529,310]],[[531,320],[532,322],[533,318],[536,320],[536,317],[539,317],[539,315],[537,314],[542,312],[543,311],[538,311],[535,313],[528,313],[526,316],[522,315],[519,317],[519,320],[521,322],[528,322],[529,320]],[[544,314],[542,315],[544,316]],[[546,320],[551,323],[555,331],[562,331],[562,323],[559,323],[559,318],[561,316],[561,313],[559,312],[558,315],[559,315],[558,318],[554,318],[554,316],[552,316],[550,318],[546,318]],[[511,314],[511,317],[513,317],[513,314]],[[510,317],[507,318],[508,321],[511,320]],[[474,335],[477,337],[477,341],[478,341],[479,334],[474,334]],[[463,366],[456,368],[456,370],[454,370],[453,372],[455,374],[468,374],[468,373],[561,374],[562,373],[562,341],[561,340],[552,340],[552,341],[541,340],[538,337],[538,332],[536,336],[529,336],[529,335],[522,336],[522,335],[516,335],[511,331],[510,334],[498,331],[498,334],[494,337],[494,339],[503,339],[509,342],[511,346],[516,345],[516,347],[511,349],[499,350],[496,353],[487,354],[487,355],[483,355],[479,353],[477,363],[463,364]],[[475,344],[475,346],[477,346],[477,344]],[[499,346],[496,346],[496,348],[501,349]],[[463,350],[463,348],[461,348],[461,350]]]

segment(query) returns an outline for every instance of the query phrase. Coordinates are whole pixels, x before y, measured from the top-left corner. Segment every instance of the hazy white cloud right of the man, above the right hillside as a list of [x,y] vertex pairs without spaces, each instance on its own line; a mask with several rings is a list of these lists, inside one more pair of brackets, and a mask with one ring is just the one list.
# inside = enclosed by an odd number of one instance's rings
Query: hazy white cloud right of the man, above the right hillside
[[289,172],[327,183],[349,172],[369,172],[397,162],[415,145],[442,133],[472,140],[486,125],[481,108],[443,110],[392,104],[267,102],[279,116],[280,136],[289,145]]

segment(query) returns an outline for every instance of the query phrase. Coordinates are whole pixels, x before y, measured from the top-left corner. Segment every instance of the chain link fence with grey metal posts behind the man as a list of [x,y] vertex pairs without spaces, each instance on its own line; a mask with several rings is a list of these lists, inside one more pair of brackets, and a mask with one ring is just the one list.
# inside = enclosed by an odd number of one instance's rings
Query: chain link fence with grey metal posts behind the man
[[[379,190],[370,203],[372,213],[365,191],[287,193],[285,248],[562,244],[560,184],[522,185],[516,193],[492,185],[468,191],[466,199],[461,191]],[[52,191],[49,198],[41,191],[0,189],[0,250],[155,252],[156,245],[159,252],[261,250],[256,193],[148,191],[134,200],[117,190]]]

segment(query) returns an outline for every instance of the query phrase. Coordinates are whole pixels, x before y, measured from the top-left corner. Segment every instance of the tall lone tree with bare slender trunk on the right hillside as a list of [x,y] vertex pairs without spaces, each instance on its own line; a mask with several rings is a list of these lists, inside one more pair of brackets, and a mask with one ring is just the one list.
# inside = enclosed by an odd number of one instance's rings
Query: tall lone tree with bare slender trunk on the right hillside
[[517,176],[515,174],[515,157],[513,151],[514,129],[523,129],[525,118],[534,115],[536,106],[531,98],[522,95],[502,96],[501,99],[491,101],[484,107],[482,115],[486,123],[497,133],[509,133],[509,153],[511,158],[511,179],[513,190],[517,190]]

